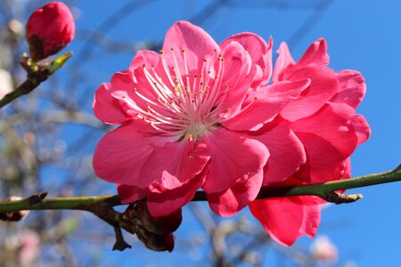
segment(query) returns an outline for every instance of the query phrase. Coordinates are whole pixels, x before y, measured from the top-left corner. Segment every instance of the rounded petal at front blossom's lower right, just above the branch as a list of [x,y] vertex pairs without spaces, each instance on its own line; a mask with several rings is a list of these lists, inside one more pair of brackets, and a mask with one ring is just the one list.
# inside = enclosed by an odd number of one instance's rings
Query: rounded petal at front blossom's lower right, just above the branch
[[270,157],[265,166],[263,184],[281,182],[299,170],[307,160],[302,143],[286,123],[277,120],[252,134],[266,145]]

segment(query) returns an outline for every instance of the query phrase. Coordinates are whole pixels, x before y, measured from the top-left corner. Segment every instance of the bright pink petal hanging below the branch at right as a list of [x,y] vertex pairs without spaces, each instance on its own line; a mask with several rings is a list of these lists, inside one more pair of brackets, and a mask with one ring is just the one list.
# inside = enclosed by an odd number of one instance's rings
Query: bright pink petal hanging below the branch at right
[[250,211],[275,241],[291,246],[300,236],[313,238],[320,223],[320,207],[303,205],[307,198],[258,199],[250,203]]

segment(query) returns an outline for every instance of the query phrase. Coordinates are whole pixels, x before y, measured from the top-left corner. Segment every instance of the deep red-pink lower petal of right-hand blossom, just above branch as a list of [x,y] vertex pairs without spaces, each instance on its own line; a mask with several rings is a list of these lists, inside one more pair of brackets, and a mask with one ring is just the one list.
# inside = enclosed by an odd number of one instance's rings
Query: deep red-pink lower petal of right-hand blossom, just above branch
[[297,177],[310,183],[339,180],[345,171],[344,158],[339,150],[323,138],[308,133],[296,133],[307,152],[307,163]]

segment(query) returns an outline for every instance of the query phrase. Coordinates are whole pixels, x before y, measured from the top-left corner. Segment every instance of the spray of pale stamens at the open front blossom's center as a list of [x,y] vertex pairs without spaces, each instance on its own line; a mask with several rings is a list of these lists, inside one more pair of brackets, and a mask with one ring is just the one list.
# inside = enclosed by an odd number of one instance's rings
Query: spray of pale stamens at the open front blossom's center
[[[168,66],[164,52],[160,52],[162,70],[158,70],[162,73],[158,73],[155,66],[143,64],[143,75],[149,83],[146,90],[150,92],[141,93],[137,88],[134,89],[146,102],[146,108],[136,109],[137,116],[162,134],[176,135],[179,140],[185,136],[199,140],[202,134],[217,129],[221,120],[222,103],[228,89],[228,85],[225,85],[221,90],[224,58],[220,54],[217,64],[215,50],[203,59],[201,69],[190,73],[185,51],[181,53],[181,64],[184,66],[178,64],[174,48],[171,48],[174,64]],[[147,97],[149,93],[156,97]],[[151,101],[150,98],[157,101]]]

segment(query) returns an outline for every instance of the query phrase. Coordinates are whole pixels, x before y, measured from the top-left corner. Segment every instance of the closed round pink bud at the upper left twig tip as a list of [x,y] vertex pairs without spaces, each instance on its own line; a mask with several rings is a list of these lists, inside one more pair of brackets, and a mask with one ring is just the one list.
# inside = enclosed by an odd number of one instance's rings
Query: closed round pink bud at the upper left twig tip
[[75,23],[69,7],[52,2],[30,15],[25,37],[32,59],[40,61],[70,44],[74,35]]

